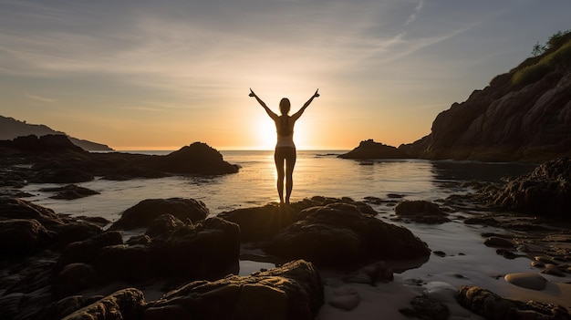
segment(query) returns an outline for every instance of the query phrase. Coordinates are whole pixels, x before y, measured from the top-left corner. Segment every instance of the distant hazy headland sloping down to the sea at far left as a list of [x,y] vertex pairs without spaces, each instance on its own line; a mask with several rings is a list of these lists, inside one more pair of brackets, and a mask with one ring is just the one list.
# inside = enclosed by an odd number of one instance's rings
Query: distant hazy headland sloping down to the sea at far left
[[[45,125],[29,124],[13,118],[0,116],[0,140],[11,140],[17,137],[34,135],[37,137],[46,135],[66,135],[66,133],[51,129]],[[69,137],[69,140],[76,146],[88,151],[111,151],[109,146],[91,142],[84,139]]]

